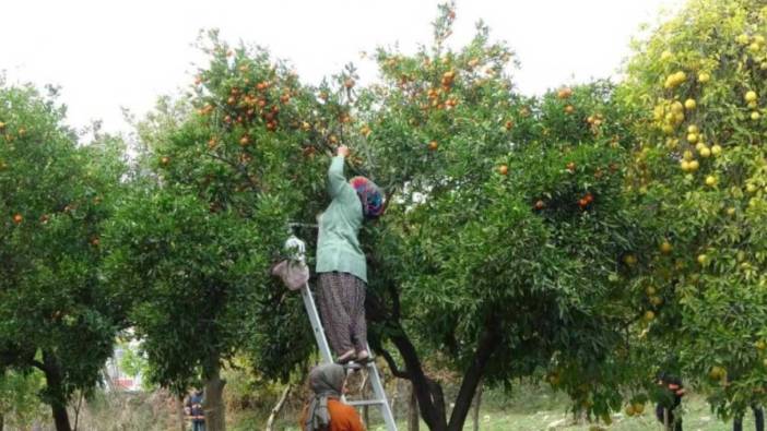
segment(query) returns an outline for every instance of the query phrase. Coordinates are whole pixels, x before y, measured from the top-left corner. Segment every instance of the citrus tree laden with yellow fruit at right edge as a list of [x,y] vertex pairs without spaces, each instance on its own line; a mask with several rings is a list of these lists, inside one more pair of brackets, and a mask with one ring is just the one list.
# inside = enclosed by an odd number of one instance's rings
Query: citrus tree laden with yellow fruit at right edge
[[622,96],[644,109],[628,185],[656,232],[635,291],[665,301],[647,343],[722,416],[767,383],[766,7],[689,2],[637,43]]

